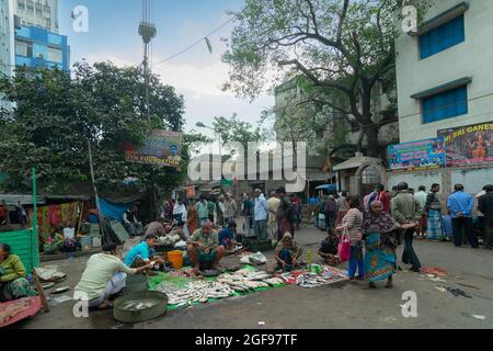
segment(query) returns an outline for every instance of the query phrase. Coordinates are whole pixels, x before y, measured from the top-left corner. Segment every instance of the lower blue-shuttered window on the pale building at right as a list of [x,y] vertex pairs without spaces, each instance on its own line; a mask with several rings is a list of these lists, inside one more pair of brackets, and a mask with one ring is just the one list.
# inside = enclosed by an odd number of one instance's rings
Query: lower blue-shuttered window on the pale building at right
[[468,113],[468,89],[460,87],[423,99],[423,123]]

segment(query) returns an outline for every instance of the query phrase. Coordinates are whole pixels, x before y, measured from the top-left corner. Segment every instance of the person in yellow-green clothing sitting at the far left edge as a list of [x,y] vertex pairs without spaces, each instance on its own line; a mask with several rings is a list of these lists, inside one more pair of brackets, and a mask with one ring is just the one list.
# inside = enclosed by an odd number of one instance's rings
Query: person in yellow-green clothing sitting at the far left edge
[[0,244],[0,303],[36,296],[36,292],[26,280],[24,264],[10,251],[9,245]]

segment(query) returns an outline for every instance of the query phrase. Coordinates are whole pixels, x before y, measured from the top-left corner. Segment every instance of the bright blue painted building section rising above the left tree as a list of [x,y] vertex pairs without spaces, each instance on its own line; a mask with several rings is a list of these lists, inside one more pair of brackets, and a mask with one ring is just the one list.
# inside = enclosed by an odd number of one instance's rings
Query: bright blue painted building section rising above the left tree
[[70,68],[70,46],[67,36],[35,26],[15,29],[15,65],[31,68],[55,66]]

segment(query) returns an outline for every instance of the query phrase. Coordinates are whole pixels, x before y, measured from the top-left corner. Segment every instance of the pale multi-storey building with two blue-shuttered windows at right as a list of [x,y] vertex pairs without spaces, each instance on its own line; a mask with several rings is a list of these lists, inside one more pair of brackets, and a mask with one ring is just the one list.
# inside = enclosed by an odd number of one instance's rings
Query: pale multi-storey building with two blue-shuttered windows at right
[[402,34],[395,43],[400,141],[436,138],[439,131],[465,127],[454,137],[470,136],[448,140],[447,152],[465,147],[465,158],[472,161],[460,167],[450,163],[454,155],[447,155],[449,167],[393,174],[390,183],[439,183],[445,193],[462,183],[466,191],[478,193],[493,174],[488,162],[493,158],[489,131],[493,127],[493,1],[429,3],[417,33]]

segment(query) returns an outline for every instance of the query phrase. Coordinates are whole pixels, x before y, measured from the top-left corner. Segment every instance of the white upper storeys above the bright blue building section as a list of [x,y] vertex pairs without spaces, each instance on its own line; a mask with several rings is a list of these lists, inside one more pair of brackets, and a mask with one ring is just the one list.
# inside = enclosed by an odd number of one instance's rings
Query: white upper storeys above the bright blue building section
[[58,33],[58,0],[14,0],[15,15],[22,26],[37,26]]

